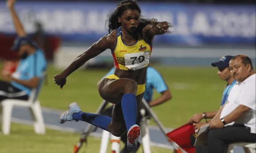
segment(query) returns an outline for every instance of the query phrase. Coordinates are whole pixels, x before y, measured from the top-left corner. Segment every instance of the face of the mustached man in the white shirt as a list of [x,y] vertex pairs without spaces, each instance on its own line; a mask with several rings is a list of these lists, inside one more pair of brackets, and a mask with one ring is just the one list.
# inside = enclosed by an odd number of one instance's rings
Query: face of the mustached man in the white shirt
[[251,65],[244,65],[241,58],[232,59],[229,62],[229,69],[231,76],[238,82],[243,82],[250,74],[252,70]]

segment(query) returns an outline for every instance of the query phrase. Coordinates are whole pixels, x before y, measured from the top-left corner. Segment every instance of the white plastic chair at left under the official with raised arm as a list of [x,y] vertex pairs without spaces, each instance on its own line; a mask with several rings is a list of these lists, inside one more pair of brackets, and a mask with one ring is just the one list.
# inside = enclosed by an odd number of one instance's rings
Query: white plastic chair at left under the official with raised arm
[[[12,118],[13,106],[28,107],[30,114],[34,119],[34,131],[37,134],[45,134],[44,118],[40,102],[37,100],[38,93],[42,84],[38,88],[31,90],[28,100],[5,99],[0,102],[0,110],[2,109],[2,133],[10,134],[10,124]],[[0,112],[1,113],[1,112]]]

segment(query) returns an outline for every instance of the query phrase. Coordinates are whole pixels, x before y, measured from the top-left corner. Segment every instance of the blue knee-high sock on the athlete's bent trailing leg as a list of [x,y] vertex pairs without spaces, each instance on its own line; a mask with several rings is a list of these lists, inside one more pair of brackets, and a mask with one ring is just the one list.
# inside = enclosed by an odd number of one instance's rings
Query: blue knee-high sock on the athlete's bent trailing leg
[[99,114],[79,112],[73,114],[73,120],[84,121],[108,131],[108,124],[110,124],[112,118]]

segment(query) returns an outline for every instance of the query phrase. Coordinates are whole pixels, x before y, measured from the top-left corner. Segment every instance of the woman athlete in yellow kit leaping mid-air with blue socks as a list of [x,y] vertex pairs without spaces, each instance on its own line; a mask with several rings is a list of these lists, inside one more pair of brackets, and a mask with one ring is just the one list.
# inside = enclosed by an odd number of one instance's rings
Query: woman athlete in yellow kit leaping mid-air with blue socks
[[152,51],[154,35],[169,33],[168,22],[141,18],[140,7],[135,0],[120,2],[109,16],[109,34],[94,43],[87,51],[78,56],[61,74],[54,76],[56,84],[62,88],[66,77],[96,57],[106,49],[111,49],[115,63],[114,75],[105,77],[99,84],[100,96],[114,105],[112,118],[99,114],[85,113],[75,103],[60,115],[61,124],[79,120],[120,137],[128,130],[128,149],[136,150],[140,127],[136,124],[146,83],[146,71]]

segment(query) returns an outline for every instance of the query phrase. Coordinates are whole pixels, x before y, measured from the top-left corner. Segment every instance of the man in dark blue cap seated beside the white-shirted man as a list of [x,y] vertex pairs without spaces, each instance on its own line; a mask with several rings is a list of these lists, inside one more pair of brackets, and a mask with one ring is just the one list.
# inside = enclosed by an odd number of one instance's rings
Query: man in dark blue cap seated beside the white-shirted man
[[[224,89],[223,96],[222,96],[222,101],[220,104],[220,107],[225,104],[225,102],[228,99],[228,95],[234,84],[236,83],[236,80],[231,77],[230,70],[228,68],[229,66],[229,61],[232,59],[233,56],[227,55],[224,56],[220,59],[220,61],[212,63],[213,67],[218,67],[218,76],[222,79],[228,82],[226,85],[226,88]],[[203,113],[198,113],[192,116],[188,123],[189,124],[194,124],[195,129],[200,129],[202,124],[204,123],[199,123],[202,119],[211,119],[216,116],[219,110],[216,110],[214,112],[203,112]]]

